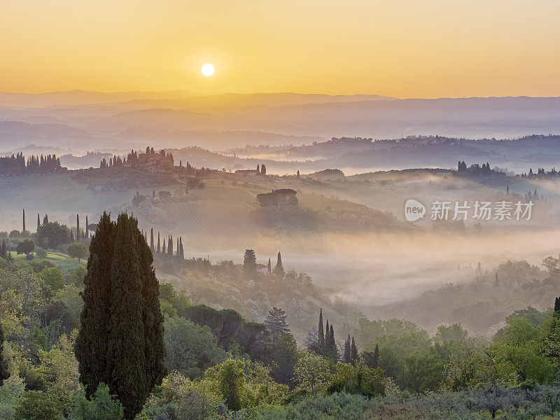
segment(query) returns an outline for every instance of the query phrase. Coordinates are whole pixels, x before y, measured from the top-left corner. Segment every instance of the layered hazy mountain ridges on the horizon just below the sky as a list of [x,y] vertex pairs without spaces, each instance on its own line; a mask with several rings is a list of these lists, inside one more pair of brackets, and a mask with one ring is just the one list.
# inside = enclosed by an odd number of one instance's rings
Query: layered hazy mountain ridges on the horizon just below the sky
[[202,146],[219,151],[246,144],[299,146],[342,136],[505,139],[558,132],[559,111],[560,99],[555,97],[3,92],[0,150],[35,144],[74,153],[125,151],[148,141],[157,147]]

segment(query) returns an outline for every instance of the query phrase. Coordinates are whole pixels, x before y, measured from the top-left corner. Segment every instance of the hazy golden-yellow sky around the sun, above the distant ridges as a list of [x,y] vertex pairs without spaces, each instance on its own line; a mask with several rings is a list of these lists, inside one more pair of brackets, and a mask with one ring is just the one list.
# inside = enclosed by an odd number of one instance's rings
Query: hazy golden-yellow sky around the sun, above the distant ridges
[[0,90],[11,92],[560,96],[558,0],[0,4]]

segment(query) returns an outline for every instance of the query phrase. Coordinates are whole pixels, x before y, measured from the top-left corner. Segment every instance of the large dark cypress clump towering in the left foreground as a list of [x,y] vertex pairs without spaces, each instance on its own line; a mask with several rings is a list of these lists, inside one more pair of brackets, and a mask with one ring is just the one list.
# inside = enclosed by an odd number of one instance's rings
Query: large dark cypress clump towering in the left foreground
[[109,384],[134,419],[165,375],[163,317],[153,256],[136,219],[102,216],[90,246],[81,328],[80,382],[91,396]]

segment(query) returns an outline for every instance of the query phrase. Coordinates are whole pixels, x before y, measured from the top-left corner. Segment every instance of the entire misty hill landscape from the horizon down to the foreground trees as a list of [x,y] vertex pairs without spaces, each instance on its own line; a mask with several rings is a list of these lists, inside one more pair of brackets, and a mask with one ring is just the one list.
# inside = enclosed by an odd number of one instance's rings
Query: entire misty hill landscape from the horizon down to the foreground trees
[[[479,263],[490,276],[507,260],[539,266],[559,254],[560,181],[519,176],[560,167],[560,137],[547,135],[560,132],[559,111],[559,98],[531,97],[1,93],[0,151],[54,153],[72,170],[97,168],[102,159],[150,144],[172,153],[175,165],[224,172],[186,195],[172,177],[104,178],[99,169],[0,178],[0,229],[20,229],[22,208],[67,225],[76,214],[96,220],[105,210],[127,211],[145,230],[186,238],[191,258],[239,262],[253,248],[266,264],[281,251],[286,267],[383,318],[392,315],[387,305],[472,281]],[[496,172],[456,176],[461,160],[489,162]],[[253,182],[233,174],[256,165],[290,176]],[[342,172],[321,175],[335,168]],[[296,190],[300,205],[260,209],[255,196],[278,188]],[[132,200],[160,190],[174,199]],[[510,192],[520,198],[538,192],[531,221],[477,225],[471,218],[457,230],[429,217],[404,218],[411,198],[429,207],[435,200],[496,202]]]

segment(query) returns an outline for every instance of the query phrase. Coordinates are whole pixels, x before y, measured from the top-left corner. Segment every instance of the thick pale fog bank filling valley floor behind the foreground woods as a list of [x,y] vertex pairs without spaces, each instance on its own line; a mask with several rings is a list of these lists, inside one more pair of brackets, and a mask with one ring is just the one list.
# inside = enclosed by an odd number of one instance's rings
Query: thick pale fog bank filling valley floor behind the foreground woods
[[[455,233],[391,235],[321,235],[281,237],[253,243],[258,262],[265,264],[282,253],[286,269],[307,272],[314,283],[338,290],[346,300],[356,302],[368,316],[381,316],[384,304],[410,300],[425,290],[445,283],[472,279],[457,265],[480,262],[482,271],[493,270],[507,260],[527,260],[540,266],[542,258],[558,255],[560,231],[517,230],[472,235]],[[187,253],[187,250],[185,250]],[[241,249],[220,249],[210,253],[213,262],[232,259],[241,262]],[[204,256],[200,249],[189,250]],[[542,267],[541,267],[542,268]]]

